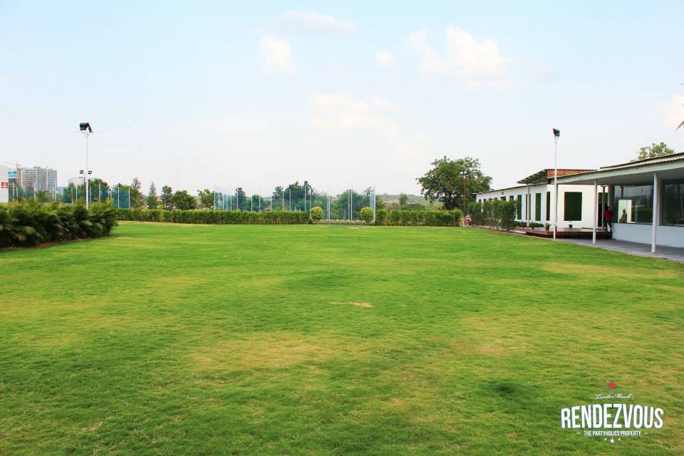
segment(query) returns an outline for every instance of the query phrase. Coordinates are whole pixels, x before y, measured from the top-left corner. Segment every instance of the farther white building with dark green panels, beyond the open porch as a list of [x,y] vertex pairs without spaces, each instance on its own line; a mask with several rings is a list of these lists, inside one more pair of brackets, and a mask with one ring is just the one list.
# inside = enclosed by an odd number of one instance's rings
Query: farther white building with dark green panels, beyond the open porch
[[[574,175],[589,170],[558,170],[561,176]],[[520,180],[516,187],[489,190],[475,195],[477,202],[506,199],[517,202],[516,220],[519,222],[536,222],[554,224],[554,170],[541,170]],[[607,187],[606,187],[607,192]],[[559,185],[558,186],[558,227],[588,228],[594,224],[594,185]],[[603,202],[603,192],[599,189],[598,199]],[[599,204],[600,207],[600,204]],[[603,214],[596,209],[599,224]]]

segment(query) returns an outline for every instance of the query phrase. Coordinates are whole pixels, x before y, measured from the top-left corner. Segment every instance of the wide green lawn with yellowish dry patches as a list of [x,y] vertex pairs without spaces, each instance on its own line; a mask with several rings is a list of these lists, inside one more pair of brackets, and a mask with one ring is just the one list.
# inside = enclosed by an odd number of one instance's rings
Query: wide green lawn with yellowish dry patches
[[[453,228],[0,252],[0,455],[681,455],[683,271]],[[561,430],[610,380],[663,429]]]

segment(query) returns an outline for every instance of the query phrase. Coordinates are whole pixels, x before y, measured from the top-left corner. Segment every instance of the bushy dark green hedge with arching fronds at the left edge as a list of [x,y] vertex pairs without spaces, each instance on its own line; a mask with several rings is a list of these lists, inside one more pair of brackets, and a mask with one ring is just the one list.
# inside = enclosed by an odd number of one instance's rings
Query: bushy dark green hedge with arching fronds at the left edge
[[0,204],[0,247],[28,247],[43,242],[108,236],[116,210],[108,203],[64,206],[35,202]]

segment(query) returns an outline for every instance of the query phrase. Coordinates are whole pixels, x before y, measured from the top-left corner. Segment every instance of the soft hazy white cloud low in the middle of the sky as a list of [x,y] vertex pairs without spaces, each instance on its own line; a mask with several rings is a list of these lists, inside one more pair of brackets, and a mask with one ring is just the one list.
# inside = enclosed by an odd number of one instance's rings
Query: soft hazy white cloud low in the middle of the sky
[[371,130],[393,136],[399,131],[386,113],[395,106],[386,100],[353,100],[345,93],[316,93],[310,101],[314,125],[325,130]]

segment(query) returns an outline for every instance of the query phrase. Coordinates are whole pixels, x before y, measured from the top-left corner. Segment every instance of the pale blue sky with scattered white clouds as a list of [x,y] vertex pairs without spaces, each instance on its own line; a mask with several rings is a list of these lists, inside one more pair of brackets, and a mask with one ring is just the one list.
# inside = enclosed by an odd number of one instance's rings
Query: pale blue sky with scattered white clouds
[[684,151],[684,2],[0,0],[0,162],[110,183],[418,194]]

